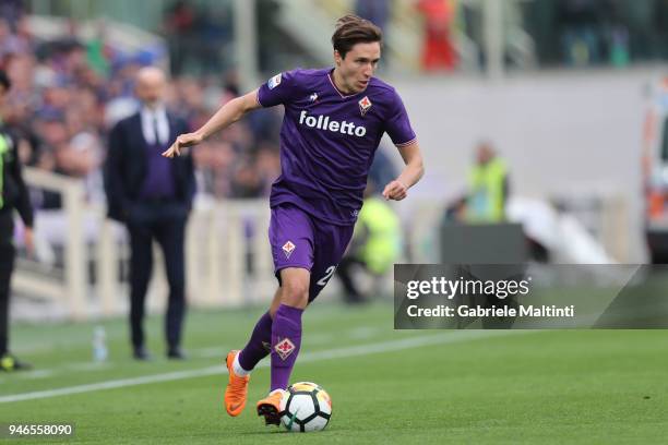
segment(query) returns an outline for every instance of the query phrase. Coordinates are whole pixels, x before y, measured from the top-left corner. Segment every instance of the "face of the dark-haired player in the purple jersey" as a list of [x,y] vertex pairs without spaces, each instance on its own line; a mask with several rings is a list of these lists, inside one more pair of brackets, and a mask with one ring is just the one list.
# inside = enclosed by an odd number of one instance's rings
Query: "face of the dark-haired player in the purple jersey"
[[338,51],[334,51],[336,69],[341,73],[343,86],[347,93],[359,93],[363,91],[373,76],[380,60],[380,43],[355,44],[353,48],[342,58]]

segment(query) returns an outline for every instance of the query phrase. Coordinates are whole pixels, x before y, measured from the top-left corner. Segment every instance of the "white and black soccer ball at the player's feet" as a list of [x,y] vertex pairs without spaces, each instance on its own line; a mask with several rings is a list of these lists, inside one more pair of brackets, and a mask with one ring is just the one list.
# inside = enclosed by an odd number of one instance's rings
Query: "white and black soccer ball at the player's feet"
[[330,395],[311,382],[290,385],[281,400],[281,420],[289,431],[305,433],[324,430],[331,417]]

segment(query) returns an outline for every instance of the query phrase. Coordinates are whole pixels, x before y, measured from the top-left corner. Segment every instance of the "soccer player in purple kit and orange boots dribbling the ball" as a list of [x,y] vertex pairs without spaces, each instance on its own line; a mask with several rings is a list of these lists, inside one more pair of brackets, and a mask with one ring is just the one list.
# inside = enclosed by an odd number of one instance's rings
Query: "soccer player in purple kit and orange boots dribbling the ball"
[[396,91],[373,77],[381,56],[378,26],[356,15],[336,23],[334,68],[276,74],[225,104],[201,129],[182,134],[164,155],[179,155],[260,107],[283,105],[282,173],[272,187],[270,242],[278,289],[241,351],[227,356],[225,407],[239,416],[250,372],[271,353],[271,392],[257,405],[279,424],[281,398],[301,345],[301,314],[334,274],[353,234],[367,175],[383,133],[406,164],[383,190],[401,201],[422,176],[422,158]]

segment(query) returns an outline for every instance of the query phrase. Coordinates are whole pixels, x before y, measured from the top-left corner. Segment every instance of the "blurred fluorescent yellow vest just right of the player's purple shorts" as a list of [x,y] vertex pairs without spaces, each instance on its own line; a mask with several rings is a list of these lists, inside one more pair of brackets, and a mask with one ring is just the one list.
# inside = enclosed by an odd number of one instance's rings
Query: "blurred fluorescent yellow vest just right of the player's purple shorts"
[[384,274],[399,260],[402,253],[401,222],[392,207],[383,200],[368,197],[359,212],[358,226],[368,230],[367,242],[359,257],[374,274]]

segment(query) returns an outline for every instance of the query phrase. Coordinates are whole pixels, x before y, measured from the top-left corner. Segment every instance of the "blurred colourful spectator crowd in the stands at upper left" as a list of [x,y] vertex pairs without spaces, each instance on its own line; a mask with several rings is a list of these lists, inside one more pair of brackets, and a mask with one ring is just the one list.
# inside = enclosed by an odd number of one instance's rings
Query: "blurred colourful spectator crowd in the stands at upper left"
[[[77,25],[59,38],[40,40],[28,27],[20,2],[0,8],[0,68],[13,83],[1,116],[20,136],[24,165],[85,181],[87,199],[104,203],[102,165],[111,127],[136,110],[134,75],[155,62],[105,41],[77,37]],[[166,106],[199,128],[238,94],[232,71],[171,79]],[[218,199],[260,197],[279,173],[281,110],[253,113],[201,144],[193,156],[198,191]],[[33,191],[38,208],[60,207],[60,196]]]

